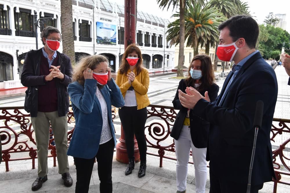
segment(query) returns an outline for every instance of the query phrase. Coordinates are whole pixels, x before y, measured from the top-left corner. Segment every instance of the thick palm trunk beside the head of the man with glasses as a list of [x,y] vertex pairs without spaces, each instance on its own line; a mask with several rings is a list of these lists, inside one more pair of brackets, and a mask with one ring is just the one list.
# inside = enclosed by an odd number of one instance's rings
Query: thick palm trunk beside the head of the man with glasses
[[75,65],[75,42],[73,38],[73,2],[61,0],[61,39],[63,53],[70,57],[72,65]]

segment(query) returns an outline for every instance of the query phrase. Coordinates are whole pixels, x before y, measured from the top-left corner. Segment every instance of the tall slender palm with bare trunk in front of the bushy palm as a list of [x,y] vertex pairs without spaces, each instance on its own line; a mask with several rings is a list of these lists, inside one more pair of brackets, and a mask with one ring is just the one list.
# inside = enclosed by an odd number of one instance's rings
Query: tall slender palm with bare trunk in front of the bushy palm
[[185,33],[185,21],[184,14],[186,10],[186,6],[190,3],[197,2],[200,5],[204,5],[204,0],[157,0],[159,7],[164,10],[167,7],[169,9],[170,5],[173,6],[173,10],[179,6],[179,27],[180,34],[179,36],[179,54],[178,54],[178,66],[177,66],[177,76],[183,76],[183,55],[184,55],[184,33]]

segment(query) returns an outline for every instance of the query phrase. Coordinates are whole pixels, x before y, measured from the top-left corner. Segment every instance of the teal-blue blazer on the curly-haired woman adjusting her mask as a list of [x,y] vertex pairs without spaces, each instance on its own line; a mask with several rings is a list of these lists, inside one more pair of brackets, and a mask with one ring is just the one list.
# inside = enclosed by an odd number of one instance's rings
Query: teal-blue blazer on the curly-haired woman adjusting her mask
[[[84,86],[77,81],[68,85],[68,93],[75,116],[75,130],[67,154],[73,157],[91,159],[97,155],[103,128],[102,109],[96,96],[97,80],[85,79]],[[100,89],[108,110],[108,121],[115,141],[111,105],[124,106],[122,93],[113,79]]]

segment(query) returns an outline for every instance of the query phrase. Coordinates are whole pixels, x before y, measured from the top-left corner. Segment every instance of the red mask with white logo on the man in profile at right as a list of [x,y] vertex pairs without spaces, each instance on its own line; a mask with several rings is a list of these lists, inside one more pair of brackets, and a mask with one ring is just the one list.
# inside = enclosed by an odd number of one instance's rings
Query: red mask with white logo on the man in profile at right
[[218,45],[217,49],[218,58],[226,62],[231,62],[235,56],[235,53],[239,49],[235,44],[237,41],[227,45]]

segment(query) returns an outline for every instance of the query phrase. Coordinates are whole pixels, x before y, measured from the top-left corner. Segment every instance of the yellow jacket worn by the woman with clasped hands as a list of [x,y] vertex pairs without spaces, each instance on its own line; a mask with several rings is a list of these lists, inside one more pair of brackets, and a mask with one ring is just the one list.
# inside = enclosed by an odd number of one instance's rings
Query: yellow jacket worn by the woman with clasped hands
[[[130,70],[130,69],[129,69]],[[133,70],[136,75],[136,69]],[[126,74],[120,74],[118,71],[116,77],[116,84],[120,87],[121,93],[125,98],[126,91],[132,86],[134,87],[137,109],[143,109],[144,107],[150,104],[150,101],[147,96],[147,91],[149,87],[149,73],[146,68],[142,68],[142,71],[135,76],[135,79],[131,84],[128,82]]]

